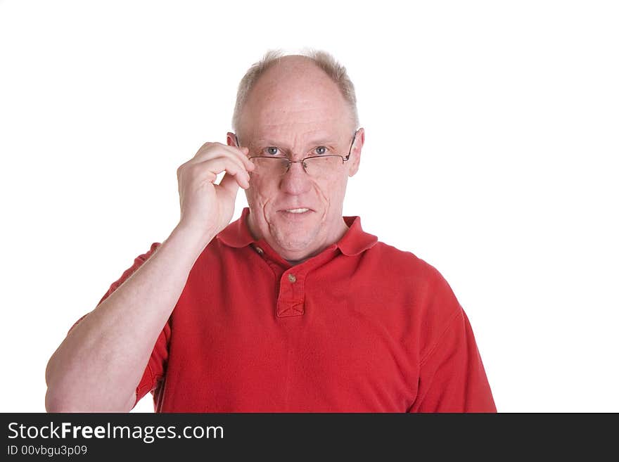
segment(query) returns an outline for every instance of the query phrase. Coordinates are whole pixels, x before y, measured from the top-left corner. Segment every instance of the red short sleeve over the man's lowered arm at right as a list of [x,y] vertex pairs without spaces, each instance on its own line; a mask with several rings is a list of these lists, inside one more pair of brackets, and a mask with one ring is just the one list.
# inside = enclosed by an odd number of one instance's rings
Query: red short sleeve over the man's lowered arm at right
[[411,412],[496,412],[473,329],[447,281],[434,287],[430,309],[447,309],[447,322],[419,363],[417,397]]

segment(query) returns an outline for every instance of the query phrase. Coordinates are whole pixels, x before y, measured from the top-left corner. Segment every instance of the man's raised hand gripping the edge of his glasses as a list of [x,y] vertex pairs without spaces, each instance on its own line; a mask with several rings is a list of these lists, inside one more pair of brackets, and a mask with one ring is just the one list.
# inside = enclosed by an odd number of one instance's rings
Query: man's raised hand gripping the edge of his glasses
[[[247,154],[247,148],[204,143],[178,168],[179,227],[196,231],[208,243],[229,224],[238,187],[249,188],[249,172],[255,168]],[[224,171],[222,181],[215,184],[217,174]]]

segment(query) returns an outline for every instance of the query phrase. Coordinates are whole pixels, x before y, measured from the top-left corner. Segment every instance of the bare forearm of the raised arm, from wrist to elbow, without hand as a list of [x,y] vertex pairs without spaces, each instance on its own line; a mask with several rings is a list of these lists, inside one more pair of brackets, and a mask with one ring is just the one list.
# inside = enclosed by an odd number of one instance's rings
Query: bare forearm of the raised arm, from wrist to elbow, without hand
[[46,370],[48,411],[129,411],[204,238],[177,227],[62,342]]

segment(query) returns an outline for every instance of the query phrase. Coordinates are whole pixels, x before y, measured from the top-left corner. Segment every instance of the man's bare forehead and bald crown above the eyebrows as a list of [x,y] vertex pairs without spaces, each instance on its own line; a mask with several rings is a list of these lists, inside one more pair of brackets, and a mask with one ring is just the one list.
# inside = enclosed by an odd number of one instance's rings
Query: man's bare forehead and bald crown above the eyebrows
[[337,84],[307,58],[284,58],[265,71],[241,115],[243,131],[253,139],[333,138],[350,131],[350,121]]

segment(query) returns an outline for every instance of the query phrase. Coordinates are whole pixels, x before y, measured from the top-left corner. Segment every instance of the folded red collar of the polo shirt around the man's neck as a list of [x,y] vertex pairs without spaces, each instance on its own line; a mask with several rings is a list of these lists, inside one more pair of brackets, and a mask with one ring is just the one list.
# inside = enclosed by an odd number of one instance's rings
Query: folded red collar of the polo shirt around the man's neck
[[[232,222],[223,231],[217,234],[217,238],[229,247],[241,248],[251,243],[255,243],[256,240],[249,232],[247,226],[247,217],[249,215],[249,207],[243,208],[241,217]],[[360,217],[344,217],[344,222],[348,226],[348,231],[344,234],[343,238],[337,243],[338,248],[344,255],[359,255],[373,247],[378,241],[378,238],[373,234],[366,233],[361,227]]]

